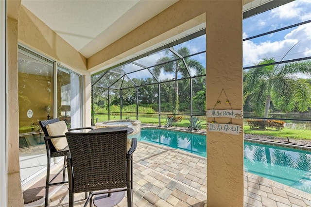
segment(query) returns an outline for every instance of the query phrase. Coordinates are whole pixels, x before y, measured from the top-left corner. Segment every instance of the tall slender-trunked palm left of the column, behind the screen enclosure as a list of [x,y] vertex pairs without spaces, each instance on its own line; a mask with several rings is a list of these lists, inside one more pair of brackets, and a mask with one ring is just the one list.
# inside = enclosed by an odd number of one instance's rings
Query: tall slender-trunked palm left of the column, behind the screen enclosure
[[[166,51],[166,55],[169,54],[169,51],[173,51],[173,48],[170,48]],[[196,75],[204,74],[205,68],[202,66],[202,64],[194,59],[191,59],[190,57],[186,57],[190,55],[190,50],[187,47],[179,48],[176,51],[181,57],[185,57],[180,59],[176,54],[172,54],[171,56],[164,56],[161,57],[156,61],[155,68],[153,69],[153,72],[156,77],[158,77],[161,73],[161,70],[164,70],[164,73],[173,73],[174,74],[174,100],[173,100],[173,113],[178,114],[179,109],[179,101],[178,101],[178,73],[181,74],[182,78],[189,77],[189,71],[188,69],[194,69],[196,71]],[[177,60],[176,60],[177,59]],[[175,61],[174,61],[175,60]],[[185,61],[186,65],[184,64],[183,60]]]

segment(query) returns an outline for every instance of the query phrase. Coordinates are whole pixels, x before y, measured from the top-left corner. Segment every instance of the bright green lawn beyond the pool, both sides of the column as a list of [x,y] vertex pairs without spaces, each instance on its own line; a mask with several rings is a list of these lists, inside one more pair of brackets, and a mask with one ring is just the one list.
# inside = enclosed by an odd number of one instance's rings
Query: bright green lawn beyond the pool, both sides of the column
[[[136,114],[122,114],[122,118],[124,119],[126,116],[130,116],[130,119],[136,120]],[[190,116],[189,116],[190,117]],[[173,123],[173,126],[178,127],[188,127],[190,122],[188,120],[189,117],[185,116],[183,121],[179,121]],[[94,119],[98,121],[108,121],[108,115],[95,115]],[[120,120],[120,114],[110,115],[110,120]],[[145,124],[154,124],[158,125],[158,115],[150,114],[146,116],[139,115],[139,121]],[[203,129],[206,129],[206,121],[205,118],[202,117]],[[164,126],[166,123],[166,115],[161,116],[161,126]],[[270,136],[270,137],[278,137],[278,138],[291,138],[291,139],[310,139],[311,140],[311,130],[308,129],[288,129],[284,128],[280,131],[276,131],[275,129],[267,129],[265,131],[261,130],[251,130],[248,125],[243,126],[243,130],[245,134],[253,134],[253,135],[263,135],[263,136]]]

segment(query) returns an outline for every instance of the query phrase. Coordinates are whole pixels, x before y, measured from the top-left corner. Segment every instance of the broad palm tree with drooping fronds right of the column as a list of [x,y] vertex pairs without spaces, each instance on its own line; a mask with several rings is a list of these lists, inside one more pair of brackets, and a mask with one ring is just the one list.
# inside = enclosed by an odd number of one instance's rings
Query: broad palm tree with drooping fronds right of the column
[[[258,66],[275,63],[275,58],[263,58]],[[271,100],[281,111],[295,108],[308,111],[311,107],[311,86],[298,74],[311,76],[311,61],[269,65],[245,73],[244,100],[249,98],[257,116],[268,117]]]

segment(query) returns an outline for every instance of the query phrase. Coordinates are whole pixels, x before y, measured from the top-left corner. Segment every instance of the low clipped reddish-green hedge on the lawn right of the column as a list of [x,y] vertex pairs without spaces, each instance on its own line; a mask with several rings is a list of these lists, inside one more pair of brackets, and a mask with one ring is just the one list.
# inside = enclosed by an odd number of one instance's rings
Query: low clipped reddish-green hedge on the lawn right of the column
[[284,128],[285,121],[277,120],[246,120],[250,129],[265,130],[266,127],[275,128],[281,130]]

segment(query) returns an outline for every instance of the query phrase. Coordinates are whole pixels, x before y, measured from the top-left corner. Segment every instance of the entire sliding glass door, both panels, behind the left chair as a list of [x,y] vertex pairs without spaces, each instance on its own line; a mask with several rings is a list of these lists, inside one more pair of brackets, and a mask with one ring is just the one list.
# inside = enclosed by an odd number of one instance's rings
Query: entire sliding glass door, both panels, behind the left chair
[[[83,126],[82,75],[35,52],[18,49],[19,159],[22,185],[46,170],[44,134],[38,121],[59,118]],[[53,158],[52,158],[53,159]],[[51,160],[54,164],[56,159]]]

